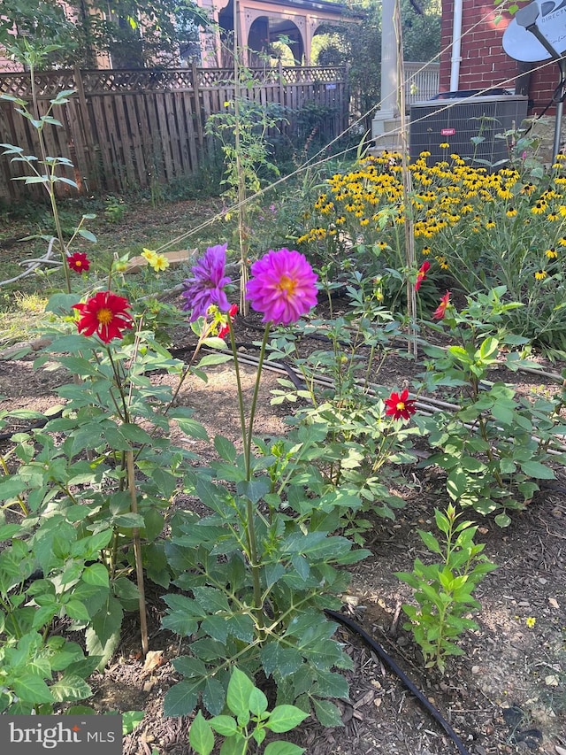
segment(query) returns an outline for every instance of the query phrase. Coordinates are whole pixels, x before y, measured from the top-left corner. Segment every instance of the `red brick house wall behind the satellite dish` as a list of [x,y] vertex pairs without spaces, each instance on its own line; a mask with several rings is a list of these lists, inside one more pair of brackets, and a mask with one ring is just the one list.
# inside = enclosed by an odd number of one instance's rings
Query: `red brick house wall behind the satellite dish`
[[[509,19],[502,19],[495,25],[496,14],[491,0],[463,0],[462,61],[458,89],[516,87],[516,77],[524,71],[524,64],[509,58],[503,50],[501,39]],[[454,0],[442,0],[440,91],[444,92],[450,89],[453,19]],[[533,65],[535,68],[538,66]],[[540,112],[547,105],[557,83],[556,64],[531,73],[528,94],[533,102],[532,112]],[[554,109],[548,112],[554,112]]]

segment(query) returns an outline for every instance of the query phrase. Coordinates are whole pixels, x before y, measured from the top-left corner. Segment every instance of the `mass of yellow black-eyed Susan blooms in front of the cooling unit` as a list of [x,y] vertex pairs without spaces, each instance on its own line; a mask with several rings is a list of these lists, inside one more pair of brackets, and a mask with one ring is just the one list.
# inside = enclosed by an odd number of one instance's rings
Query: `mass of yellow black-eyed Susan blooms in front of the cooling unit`
[[[447,144],[441,145],[448,149]],[[442,160],[428,166],[430,153],[422,152],[409,164],[412,189],[409,212],[413,219],[417,249],[424,255],[431,253],[431,240],[453,229],[465,237],[500,229],[501,224],[528,226],[532,222],[556,224],[556,234],[566,223],[566,156],[556,158],[549,181],[537,186],[525,181],[514,168],[488,172],[485,167],[468,165],[456,154],[450,162]],[[448,156],[447,156],[448,157]],[[320,242],[329,236],[334,243],[363,242],[376,245],[378,240],[391,238],[395,227],[405,222],[403,205],[402,156],[384,153],[357,163],[348,173],[336,173],[328,181],[328,188],[314,204],[310,219],[317,225],[297,239],[298,243]],[[539,226],[537,226],[538,228]],[[540,243],[551,244],[552,252],[540,247],[540,264],[558,257],[555,248],[566,246],[552,231],[540,235]],[[533,237],[538,231],[532,230]],[[422,246],[421,246],[422,243]],[[438,250],[437,250],[438,251]],[[442,252],[444,252],[442,254]],[[436,256],[441,268],[447,269],[449,253],[440,249]],[[544,275],[542,274],[544,273]],[[540,269],[536,279],[544,280],[547,272]]]

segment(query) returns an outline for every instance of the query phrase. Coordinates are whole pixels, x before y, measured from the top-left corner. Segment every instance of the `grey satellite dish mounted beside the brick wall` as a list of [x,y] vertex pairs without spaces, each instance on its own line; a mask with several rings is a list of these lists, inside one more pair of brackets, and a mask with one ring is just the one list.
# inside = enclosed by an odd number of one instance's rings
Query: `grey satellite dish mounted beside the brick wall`
[[[566,0],[533,0],[521,11],[536,6],[539,10],[536,25],[559,55],[566,52]],[[534,12],[534,9],[533,9]],[[536,63],[539,60],[552,58],[550,52],[525,27],[517,23],[516,18],[511,21],[503,34],[503,50],[509,58],[523,60],[525,63]]]

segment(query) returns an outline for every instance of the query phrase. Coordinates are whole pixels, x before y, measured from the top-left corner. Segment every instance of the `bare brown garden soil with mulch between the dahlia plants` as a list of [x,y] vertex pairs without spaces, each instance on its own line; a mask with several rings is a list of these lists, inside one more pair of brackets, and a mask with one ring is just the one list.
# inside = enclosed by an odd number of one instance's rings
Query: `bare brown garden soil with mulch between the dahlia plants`
[[[251,343],[255,328],[236,323],[237,339]],[[176,344],[184,347],[187,344]],[[319,343],[312,348],[319,348]],[[244,347],[245,348],[245,347]],[[308,344],[303,348],[309,348]],[[242,353],[244,353],[242,351]],[[249,353],[254,353],[249,350]],[[559,371],[561,366],[551,366]],[[391,389],[410,381],[416,368],[392,355],[376,381]],[[251,394],[255,371],[244,367],[244,384]],[[256,435],[286,432],[285,415],[293,405],[272,406],[272,389],[280,375],[264,372],[256,418]],[[501,379],[501,375],[498,376]],[[517,375],[503,376],[515,381]],[[153,380],[169,381],[166,375]],[[539,376],[520,376],[525,392],[555,390]],[[57,371],[33,369],[33,357],[0,360],[1,409],[25,407],[46,412],[57,404],[52,389],[65,377]],[[207,383],[191,378],[180,403],[195,410],[195,418],[210,437],[220,433],[238,443],[238,412],[233,366],[210,370]],[[175,432],[175,442],[210,458],[210,447]],[[4,451],[8,446],[4,445]],[[407,585],[395,572],[410,571],[417,557],[425,558],[417,529],[433,527],[435,507],[447,496],[434,468],[403,467],[403,482],[395,492],[405,499],[396,519],[371,520],[366,546],[371,557],[350,567],[351,585],[342,597],[344,611],[391,655],[424,695],[451,723],[470,755],[539,752],[566,755],[566,474],[558,471],[509,528],[491,518],[478,518],[478,539],[498,568],[481,582],[476,596],[481,610],[478,630],[463,636],[463,655],[449,659],[447,673],[425,669],[422,656],[403,628],[402,603],[410,601]],[[180,496],[177,508],[199,510],[198,501]],[[128,614],[119,651],[92,682],[88,701],[100,713],[139,710],[144,719],[126,736],[125,755],[188,755],[188,718],[163,716],[165,692],[177,681],[172,659],[185,651],[179,638],[160,628],[164,603],[160,589],[149,584],[150,653],[142,658],[135,614]],[[527,623],[527,619],[530,621]],[[532,620],[536,620],[532,625]],[[339,701],[343,726],[322,728],[308,719],[288,737],[309,755],[448,755],[456,752],[439,725],[424,711],[402,682],[387,669],[359,636],[337,628],[354,669],[348,672],[350,698]],[[269,691],[269,690],[268,690]]]

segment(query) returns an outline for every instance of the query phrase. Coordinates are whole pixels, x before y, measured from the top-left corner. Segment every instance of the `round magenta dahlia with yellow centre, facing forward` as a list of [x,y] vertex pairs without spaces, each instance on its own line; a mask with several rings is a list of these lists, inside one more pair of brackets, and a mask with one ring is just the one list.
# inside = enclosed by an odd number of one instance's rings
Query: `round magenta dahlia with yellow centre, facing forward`
[[251,266],[246,297],[263,322],[290,325],[317,304],[317,275],[298,251],[270,250]]

